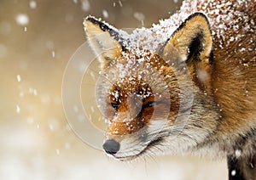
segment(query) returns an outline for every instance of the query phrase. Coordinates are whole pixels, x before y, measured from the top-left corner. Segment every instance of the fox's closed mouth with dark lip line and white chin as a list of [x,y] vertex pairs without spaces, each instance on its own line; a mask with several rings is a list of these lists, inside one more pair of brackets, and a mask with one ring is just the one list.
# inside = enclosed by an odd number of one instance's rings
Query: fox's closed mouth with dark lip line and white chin
[[163,141],[163,138],[154,139],[153,141],[148,143],[147,146],[142,151],[140,151],[137,155],[127,155],[127,156],[113,155],[113,157],[120,161],[134,160],[134,159],[137,159],[138,157],[141,157],[142,155],[147,155],[149,149],[152,149],[162,141]]

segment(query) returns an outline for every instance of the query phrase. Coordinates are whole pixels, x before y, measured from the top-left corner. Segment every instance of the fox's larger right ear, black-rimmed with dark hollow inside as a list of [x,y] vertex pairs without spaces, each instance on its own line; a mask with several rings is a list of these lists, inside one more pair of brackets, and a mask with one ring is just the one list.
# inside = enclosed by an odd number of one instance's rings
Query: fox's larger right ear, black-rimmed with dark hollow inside
[[181,55],[189,61],[192,58],[210,63],[212,53],[212,34],[207,17],[201,13],[189,16],[187,20],[173,32],[166,43],[164,53],[170,45],[177,48]]

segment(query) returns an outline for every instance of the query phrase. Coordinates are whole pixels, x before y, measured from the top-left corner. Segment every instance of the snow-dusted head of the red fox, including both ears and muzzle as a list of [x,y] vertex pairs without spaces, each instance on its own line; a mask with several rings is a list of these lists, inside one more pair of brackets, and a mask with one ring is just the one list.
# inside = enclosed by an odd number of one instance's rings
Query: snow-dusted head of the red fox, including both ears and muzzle
[[93,17],[84,27],[101,63],[97,98],[109,125],[108,155],[131,160],[193,150],[215,130],[212,35],[204,14],[190,15],[164,43],[150,29],[146,36],[128,34]]

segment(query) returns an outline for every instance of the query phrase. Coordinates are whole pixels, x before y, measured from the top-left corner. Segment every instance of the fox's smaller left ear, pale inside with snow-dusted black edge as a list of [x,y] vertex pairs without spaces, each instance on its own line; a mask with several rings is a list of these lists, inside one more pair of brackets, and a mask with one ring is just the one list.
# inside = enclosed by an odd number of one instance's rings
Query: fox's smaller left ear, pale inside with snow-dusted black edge
[[91,48],[100,60],[102,70],[125,49],[119,32],[100,20],[87,17],[84,20],[84,30]]

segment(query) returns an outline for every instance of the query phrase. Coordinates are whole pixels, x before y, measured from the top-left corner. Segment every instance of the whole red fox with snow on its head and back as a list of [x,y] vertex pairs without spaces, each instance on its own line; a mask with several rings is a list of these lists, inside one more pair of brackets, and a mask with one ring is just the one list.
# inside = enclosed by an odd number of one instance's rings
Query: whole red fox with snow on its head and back
[[131,34],[84,20],[101,63],[108,155],[227,157],[230,179],[256,179],[255,4],[185,0]]

